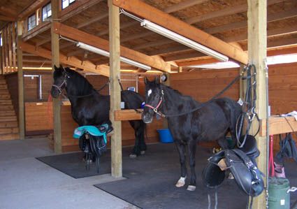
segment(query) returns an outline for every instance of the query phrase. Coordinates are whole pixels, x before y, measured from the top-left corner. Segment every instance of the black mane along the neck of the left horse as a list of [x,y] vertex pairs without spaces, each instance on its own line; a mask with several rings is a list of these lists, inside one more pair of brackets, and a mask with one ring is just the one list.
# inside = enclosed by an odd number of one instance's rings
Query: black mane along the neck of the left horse
[[89,94],[92,92],[94,87],[91,83],[89,83],[87,78],[80,75],[80,73],[69,69],[68,67],[65,68],[65,71],[70,77],[69,80],[71,80],[71,82],[73,82],[73,84],[78,87],[76,88],[78,90],[78,95]]

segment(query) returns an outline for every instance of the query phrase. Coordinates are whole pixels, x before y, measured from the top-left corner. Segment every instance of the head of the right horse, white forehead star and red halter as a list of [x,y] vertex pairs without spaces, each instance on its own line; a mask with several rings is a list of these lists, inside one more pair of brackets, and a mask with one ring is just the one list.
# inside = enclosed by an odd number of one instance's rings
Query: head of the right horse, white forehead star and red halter
[[145,108],[143,110],[142,119],[145,123],[151,123],[154,114],[160,114],[162,101],[164,100],[164,92],[161,89],[161,83],[158,78],[150,81],[145,78]]

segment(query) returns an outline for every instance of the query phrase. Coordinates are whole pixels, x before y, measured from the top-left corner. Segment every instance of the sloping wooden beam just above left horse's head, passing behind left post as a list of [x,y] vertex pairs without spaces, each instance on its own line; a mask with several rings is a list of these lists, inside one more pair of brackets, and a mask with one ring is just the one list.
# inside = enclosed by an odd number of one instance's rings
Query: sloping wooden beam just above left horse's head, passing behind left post
[[[36,48],[35,45],[31,45],[29,43],[22,43],[20,45],[24,52],[31,53],[33,55],[37,55],[39,57],[44,57],[46,59],[52,59],[52,52],[50,50],[46,50],[44,48]],[[66,55],[59,54],[59,61],[62,64],[68,64],[70,66],[77,67],[78,69],[82,69],[84,71],[89,71],[92,73],[98,73],[104,76],[109,76],[109,67],[108,66],[96,66],[92,62],[85,61],[76,58],[76,57],[67,57]]]

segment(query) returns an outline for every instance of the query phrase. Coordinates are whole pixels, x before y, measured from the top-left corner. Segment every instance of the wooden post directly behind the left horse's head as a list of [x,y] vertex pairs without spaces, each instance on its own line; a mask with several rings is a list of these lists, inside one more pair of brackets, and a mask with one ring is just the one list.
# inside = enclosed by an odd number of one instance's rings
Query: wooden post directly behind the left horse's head
[[[59,11],[59,0],[51,0],[52,3],[52,26],[50,35],[52,38],[52,72],[55,71],[54,66],[59,66],[59,35],[54,33],[53,23],[57,22]],[[54,149],[56,153],[62,151],[61,146],[61,118],[60,118],[60,99],[52,99],[52,113],[54,114]]]

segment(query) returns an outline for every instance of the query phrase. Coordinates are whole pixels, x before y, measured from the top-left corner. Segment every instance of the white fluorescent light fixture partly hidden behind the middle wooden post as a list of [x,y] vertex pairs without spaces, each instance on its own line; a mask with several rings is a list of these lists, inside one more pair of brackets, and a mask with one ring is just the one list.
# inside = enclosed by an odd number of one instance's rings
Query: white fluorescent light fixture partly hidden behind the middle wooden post
[[[109,57],[110,56],[110,53],[108,51],[101,50],[101,49],[96,48],[96,47],[94,47],[92,45],[87,45],[85,43],[78,42],[78,43],[76,43],[76,46],[78,48],[82,48],[84,50],[88,50],[90,52],[94,52],[94,53],[96,53],[98,55],[103,55],[105,57]],[[136,66],[136,67],[138,67],[140,69],[144,69],[145,71],[150,71],[150,69],[151,69],[151,67],[150,66],[147,66],[146,64],[142,64],[140,62],[133,61],[133,60],[128,59],[126,57],[119,57],[119,60],[122,61],[122,62],[125,62],[126,64],[131,64],[131,65]]]

